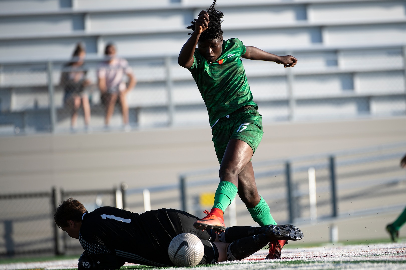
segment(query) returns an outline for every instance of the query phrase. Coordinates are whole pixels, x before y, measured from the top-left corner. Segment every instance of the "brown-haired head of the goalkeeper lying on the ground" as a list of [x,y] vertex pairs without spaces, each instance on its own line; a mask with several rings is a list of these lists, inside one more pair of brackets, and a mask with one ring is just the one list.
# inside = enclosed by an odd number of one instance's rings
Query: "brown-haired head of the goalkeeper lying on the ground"
[[68,227],[68,220],[79,222],[82,221],[82,215],[87,213],[83,204],[73,198],[63,201],[54,214],[54,221],[60,228]]

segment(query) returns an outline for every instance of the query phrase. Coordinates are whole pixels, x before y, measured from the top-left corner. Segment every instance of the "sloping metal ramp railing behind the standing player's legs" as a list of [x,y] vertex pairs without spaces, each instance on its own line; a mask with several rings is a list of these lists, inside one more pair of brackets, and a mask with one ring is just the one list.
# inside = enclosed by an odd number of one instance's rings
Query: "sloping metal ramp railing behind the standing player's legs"
[[[399,166],[406,154],[406,142],[311,155],[292,159],[253,162],[255,179],[261,196],[271,208],[275,219],[289,223],[314,223],[343,217],[353,217],[375,209],[385,213],[397,209],[391,196],[406,204],[406,173]],[[309,189],[309,168],[315,171],[314,191]],[[214,192],[218,185],[218,168],[187,172],[179,176],[179,184],[162,187],[127,189],[127,208],[134,212],[172,207],[198,217],[212,205],[199,205],[202,193]],[[149,201],[145,202],[147,190]],[[311,215],[310,194],[317,194],[316,215]],[[315,195],[316,196],[316,195]],[[381,198],[383,204],[370,197]],[[357,203],[352,204],[352,201]],[[130,202],[130,203],[128,203]],[[226,219],[228,219],[226,210]],[[233,213],[229,213],[234,215]],[[237,198],[236,215],[239,224],[252,223],[248,210]]]

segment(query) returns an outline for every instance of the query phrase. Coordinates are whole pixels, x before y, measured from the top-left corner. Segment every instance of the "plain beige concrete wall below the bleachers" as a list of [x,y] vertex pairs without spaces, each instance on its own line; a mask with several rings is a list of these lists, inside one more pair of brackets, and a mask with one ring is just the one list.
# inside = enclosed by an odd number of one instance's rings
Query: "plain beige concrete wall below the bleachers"
[[[406,140],[406,118],[264,126],[253,162]],[[2,194],[177,183],[181,172],[218,166],[210,129],[0,137]]]

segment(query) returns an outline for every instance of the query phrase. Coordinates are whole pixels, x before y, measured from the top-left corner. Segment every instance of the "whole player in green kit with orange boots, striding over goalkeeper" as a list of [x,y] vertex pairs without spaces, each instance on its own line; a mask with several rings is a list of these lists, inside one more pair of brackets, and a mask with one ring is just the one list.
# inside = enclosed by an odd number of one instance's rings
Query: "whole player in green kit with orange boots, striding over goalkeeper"
[[[214,148],[220,163],[220,183],[214,206],[205,218],[196,221],[200,230],[225,230],[224,210],[236,194],[260,226],[276,225],[268,204],[258,194],[251,157],[262,139],[262,117],[247,82],[240,57],[296,65],[291,56],[277,56],[256,47],[244,46],[237,38],[222,40],[223,13],[214,9],[216,0],[188,27],[193,33],[179,53],[178,63],[187,68],[207,107]],[[197,49],[196,49],[197,47]],[[285,240],[271,243],[268,259],[280,258]]]

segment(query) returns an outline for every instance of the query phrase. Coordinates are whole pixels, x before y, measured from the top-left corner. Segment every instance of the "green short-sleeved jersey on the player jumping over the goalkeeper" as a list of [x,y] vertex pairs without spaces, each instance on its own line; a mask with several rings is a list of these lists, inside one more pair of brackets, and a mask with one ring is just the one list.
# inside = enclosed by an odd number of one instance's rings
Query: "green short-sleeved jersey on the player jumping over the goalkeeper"
[[207,61],[198,49],[194,52],[194,62],[188,70],[207,107],[210,126],[243,106],[257,108],[240,59],[245,52],[246,47],[237,38],[223,41],[222,53],[213,63]]

